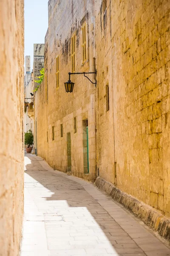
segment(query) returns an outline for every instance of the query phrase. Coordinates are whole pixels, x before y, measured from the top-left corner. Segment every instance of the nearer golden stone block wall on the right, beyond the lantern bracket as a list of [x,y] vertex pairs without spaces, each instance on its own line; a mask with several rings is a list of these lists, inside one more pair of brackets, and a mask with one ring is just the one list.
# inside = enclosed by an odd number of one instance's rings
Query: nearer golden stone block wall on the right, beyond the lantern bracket
[[99,175],[170,217],[170,1],[98,2]]

